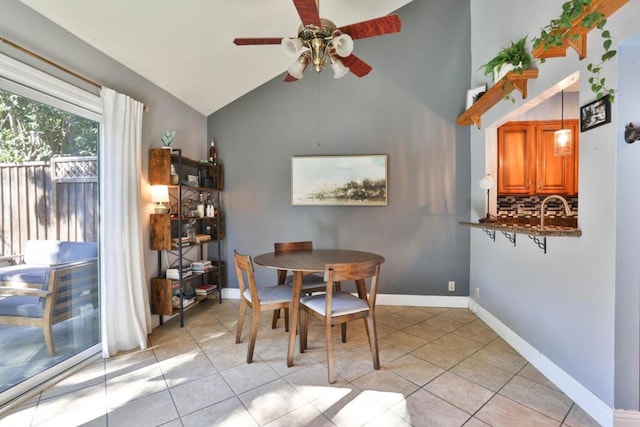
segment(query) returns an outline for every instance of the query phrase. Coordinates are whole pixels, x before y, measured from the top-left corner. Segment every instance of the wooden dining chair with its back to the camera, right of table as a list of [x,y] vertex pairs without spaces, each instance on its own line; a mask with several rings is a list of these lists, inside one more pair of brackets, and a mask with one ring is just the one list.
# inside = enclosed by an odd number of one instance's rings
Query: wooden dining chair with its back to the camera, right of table
[[[347,264],[327,264],[324,275],[327,280],[326,293],[305,296],[300,299],[300,352],[307,349],[307,331],[309,316],[324,322],[327,347],[327,367],[329,383],[335,382],[333,363],[333,325],[346,325],[347,322],[363,319],[374,369],[380,369],[378,337],[376,332],[375,306],[380,277],[380,261],[357,262]],[[365,279],[371,279],[369,297]],[[334,289],[333,284],[345,280],[355,280],[358,296]],[[343,328],[343,342],[345,329]]]

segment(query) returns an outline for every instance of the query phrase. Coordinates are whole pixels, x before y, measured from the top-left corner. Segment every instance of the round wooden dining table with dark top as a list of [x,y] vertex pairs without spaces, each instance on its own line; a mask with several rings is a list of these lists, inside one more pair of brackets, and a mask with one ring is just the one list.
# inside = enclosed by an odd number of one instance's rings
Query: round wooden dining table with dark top
[[[293,296],[291,299],[291,313],[289,315],[289,349],[287,352],[287,366],[293,366],[293,353],[296,344],[296,331],[300,314],[300,294],[302,276],[305,273],[324,272],[326,264],[343,264],[353,262],[380,261],[384,257],[371,252],[353,251],[348,249],[312,249],[283,253],[269,252],[253,258],[257,265],[276,270],[290,270],[293,272]],[[358,294],[366,299],[364,282],[356,283]]]

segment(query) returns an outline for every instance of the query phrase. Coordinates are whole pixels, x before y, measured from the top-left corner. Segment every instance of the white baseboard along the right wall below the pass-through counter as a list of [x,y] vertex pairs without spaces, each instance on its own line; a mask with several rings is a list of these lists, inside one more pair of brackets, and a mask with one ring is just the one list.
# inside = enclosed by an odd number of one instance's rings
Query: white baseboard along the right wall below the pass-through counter
[[483,322],[547,377],[549,381],[584,409],[591,418],[603,427],[613,427],[613,409],[611,407],[471,299],[469,299],[469,309],[475,312]]

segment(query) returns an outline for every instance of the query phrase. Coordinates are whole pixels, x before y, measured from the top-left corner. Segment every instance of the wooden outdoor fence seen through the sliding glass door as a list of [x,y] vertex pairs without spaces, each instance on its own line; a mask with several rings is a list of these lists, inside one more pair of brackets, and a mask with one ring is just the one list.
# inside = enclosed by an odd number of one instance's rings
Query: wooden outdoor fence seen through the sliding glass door
[[23,253],[29,239],[95,242],[95,156],[0,164],[0,256]]

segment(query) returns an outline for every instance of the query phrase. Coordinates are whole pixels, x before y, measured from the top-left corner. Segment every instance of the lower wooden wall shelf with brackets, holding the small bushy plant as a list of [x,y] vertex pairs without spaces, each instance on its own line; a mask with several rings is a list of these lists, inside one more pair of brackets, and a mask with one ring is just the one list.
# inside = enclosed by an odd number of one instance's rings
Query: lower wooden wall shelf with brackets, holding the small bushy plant
[[538,77],[538,70],[529,69],[522,73],[512,71],[493,85],[480,99],[473,103],[469,109],[462,113],[456,124],[472,125],[475,124],[478,129],[482,125],[482,115],[491,107],[496,105],[506,95],[517,89],[522,94],[522,99],[527,97],[527,81]]

